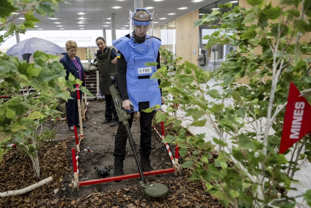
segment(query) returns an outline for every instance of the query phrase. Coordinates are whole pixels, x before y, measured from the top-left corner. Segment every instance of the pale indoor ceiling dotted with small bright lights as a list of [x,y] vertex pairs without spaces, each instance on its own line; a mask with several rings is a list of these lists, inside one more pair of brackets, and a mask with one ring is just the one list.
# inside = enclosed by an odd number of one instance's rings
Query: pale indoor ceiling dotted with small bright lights
[[[154,10],[154,27],[158,27],[215,1],[144,0],[143,5],[150,12]],[[129,24],[129,9],[134,10],[134,0],[67,0],[67,3],[59,3],[59,11],[53,19],[37,16],[41,22],[30,30],[110,30],[110,14],[115,14],[116,30],[125,30]]]

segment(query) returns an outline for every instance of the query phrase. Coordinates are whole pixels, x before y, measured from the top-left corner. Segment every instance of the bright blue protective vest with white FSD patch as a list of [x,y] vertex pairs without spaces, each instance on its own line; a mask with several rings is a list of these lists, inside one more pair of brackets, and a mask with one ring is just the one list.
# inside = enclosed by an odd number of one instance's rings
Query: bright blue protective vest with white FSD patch
[[113,40],[112,44],[120,51],[127,63],[126,83],[128,97],[135,111],[160,105],[161,93],[157,79],[150,79],[156,71],[156,66],[146,66],[146,63],[156,62],[161,41],[152,38],[143,43],[134,43],[126,36]]

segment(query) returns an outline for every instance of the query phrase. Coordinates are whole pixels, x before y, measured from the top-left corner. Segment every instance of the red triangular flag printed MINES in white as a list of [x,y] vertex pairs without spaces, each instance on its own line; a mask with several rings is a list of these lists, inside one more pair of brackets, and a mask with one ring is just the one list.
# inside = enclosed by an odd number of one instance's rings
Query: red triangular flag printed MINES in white
[[280,153],[284,153],[295,142],[311,131],[311,106],[293,82],[287,99]]

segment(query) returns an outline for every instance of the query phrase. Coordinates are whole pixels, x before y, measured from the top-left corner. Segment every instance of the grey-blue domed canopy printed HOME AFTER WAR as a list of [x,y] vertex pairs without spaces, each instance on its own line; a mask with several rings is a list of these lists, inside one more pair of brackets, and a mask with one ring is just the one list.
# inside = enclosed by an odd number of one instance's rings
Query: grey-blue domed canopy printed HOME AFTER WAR
[[16,43],[9,50],[7,50],[6,54],[15,56],[20,60],[24,59],[31,63],[32,54],[36,50],[43,51],[47,54],[58,55],[60,57],[66,54],[66,51],[55,43],[35,37]]

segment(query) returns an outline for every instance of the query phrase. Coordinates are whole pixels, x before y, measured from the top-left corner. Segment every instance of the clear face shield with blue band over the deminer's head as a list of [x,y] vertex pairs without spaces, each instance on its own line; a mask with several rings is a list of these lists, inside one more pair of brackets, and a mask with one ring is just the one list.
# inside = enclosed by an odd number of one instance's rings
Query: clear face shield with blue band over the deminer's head
[[130,10],[130,36],[134,42],[151,42],[153,37],[153,13],[145,8],[138,8],[135,12]]

